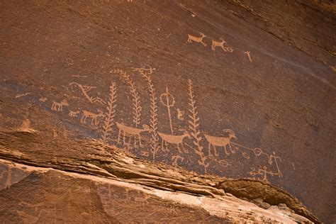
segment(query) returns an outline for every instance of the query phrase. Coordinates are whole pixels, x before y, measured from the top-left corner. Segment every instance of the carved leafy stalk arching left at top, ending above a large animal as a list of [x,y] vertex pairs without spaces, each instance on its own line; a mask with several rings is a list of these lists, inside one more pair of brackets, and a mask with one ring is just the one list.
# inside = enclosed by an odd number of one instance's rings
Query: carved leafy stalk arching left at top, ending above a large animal
[[140,125],[140,116],[141,116],[141,110],[142,107],[140,106],[140,96],[138,94],[138,91],[135,87],[135,83],[130,78],[130,75],[126,72],[123,72],[121,69],[114,69],[113,72],[116,74],[120,74],[123,79],[125,79],[126,84],[128,84],[128,87],[130,89],[130,94],[132,95],[132,106],[133,106],[133,123],[135,124],[135,128]]

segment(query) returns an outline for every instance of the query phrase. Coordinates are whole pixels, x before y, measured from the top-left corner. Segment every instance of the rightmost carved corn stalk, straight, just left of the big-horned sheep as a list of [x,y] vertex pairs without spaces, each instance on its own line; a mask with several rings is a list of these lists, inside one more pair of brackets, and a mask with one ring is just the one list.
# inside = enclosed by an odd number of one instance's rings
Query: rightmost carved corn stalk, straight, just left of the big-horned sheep
[[194,139],[193,143],[196,146],[195,152],[200,157],[198,160],[198,164],[204,167],[204,172],[206,172],[206,168],[209,164],[206,164],[206,157],[203,154],[203,147],[201,146],[201,131],[199,130],[199,118],[196,107],[196,101],[194,99],[194,90],[192,86],[192,82],[188,79],[188,98],[189,98],[189,130],[190,135]]

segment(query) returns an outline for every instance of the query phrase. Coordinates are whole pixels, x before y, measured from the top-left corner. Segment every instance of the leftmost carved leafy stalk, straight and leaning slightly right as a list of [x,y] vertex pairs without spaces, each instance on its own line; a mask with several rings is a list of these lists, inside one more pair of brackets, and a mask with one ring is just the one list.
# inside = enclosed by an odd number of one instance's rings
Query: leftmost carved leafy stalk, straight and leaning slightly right
[[103,136],[101,138],[103,142],[108,142],[111,137],[112,125],[114,123],[114,116],[116,116],[116,97],[117,97],[116,82],[111,82],[110,94],[106,106],[107,114],[103,121]]

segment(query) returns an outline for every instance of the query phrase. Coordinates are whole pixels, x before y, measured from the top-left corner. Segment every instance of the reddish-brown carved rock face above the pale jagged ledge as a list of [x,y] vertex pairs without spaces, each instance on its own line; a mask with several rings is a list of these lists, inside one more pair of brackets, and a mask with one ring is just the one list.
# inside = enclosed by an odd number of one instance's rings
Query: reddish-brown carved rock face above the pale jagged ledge
[[[91,156],[97,140],[270,183],[335,222],[332,2],[1,1],[0,26],[3,159],[111,177]],[[241,186],[228,190],[262,198]]]

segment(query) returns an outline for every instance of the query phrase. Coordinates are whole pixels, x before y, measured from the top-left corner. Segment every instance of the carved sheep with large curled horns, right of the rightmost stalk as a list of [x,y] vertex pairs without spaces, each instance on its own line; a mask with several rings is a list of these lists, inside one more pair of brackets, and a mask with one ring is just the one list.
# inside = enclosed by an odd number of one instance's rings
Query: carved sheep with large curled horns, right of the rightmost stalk
[[233,148],[230,145],[231,139],[233,139],[233,138],[237,139],[237,137],[235,136],[235,133],[233,132],[233,130],[230,130],[230,129],[225,129],[225,130],[223,130],[223,132],[228,133],[229,136],[228,137],[217,137],[217,136],[211,136],[211,135],[203,134],[204,137],[206,138],[206,140],[209,142],[209,152],[211,150],[211,145],[212,145],[216,156],[218,156],[218,153],[215,149],[216,146],[219,146],[219,147],[223,146],[224,149],[225,149],[225,154],[226,155],[230,155],[230,153],[226,149],[226,146],[230,147],[230,150],[231,150],[232,153],[235,153],[235,151],[233,150]]

